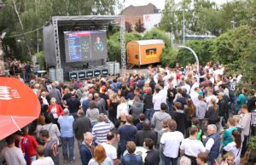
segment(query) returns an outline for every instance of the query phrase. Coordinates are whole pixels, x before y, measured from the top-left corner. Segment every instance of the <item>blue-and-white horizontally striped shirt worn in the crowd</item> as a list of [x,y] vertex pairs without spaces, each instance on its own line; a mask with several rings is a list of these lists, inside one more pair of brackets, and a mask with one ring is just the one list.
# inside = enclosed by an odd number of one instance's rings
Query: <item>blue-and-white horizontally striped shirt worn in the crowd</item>
[[112,122],[98,122],[92,128],[93,139],[96,139],[96,144],[107,142],[107,134],[113,128]]

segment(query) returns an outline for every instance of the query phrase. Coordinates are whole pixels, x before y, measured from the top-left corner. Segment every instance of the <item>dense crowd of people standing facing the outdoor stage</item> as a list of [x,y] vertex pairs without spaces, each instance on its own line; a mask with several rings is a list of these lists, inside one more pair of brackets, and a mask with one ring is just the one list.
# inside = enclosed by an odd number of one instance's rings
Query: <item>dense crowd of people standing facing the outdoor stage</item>
[[[239,165],[256,134],[256,92],[237,93],[241,75],[228,77],[218,63],[195,68],[149,66],[70,83],[17,77],[38,96],[41,113],[6,138],[1,156],[8,165],[58,165],[73,163],[78,148],[82,165]],[[252,154],[247,164],[255,161]]]

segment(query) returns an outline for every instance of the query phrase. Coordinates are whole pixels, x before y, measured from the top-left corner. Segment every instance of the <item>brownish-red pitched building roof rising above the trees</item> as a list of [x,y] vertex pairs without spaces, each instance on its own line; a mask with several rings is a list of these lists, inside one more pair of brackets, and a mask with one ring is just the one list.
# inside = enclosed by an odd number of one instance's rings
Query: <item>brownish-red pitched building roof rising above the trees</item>
[[154,4],[148,3],[144,6],[133,6],[130,5],[125,8],[120,15],[125,16],[143,16],[143,14],[156,14],[159,13],[159,9],[157,9]]

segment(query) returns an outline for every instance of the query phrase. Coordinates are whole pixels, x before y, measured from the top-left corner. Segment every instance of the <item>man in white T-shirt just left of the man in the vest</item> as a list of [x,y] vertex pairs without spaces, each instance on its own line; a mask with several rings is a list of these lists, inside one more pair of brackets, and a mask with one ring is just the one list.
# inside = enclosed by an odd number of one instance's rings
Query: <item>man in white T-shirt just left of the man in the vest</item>
[[196,156],[200,152],[206,152],[206,149],[201,141],[196,139],[197,134],[198,129],[196,127],[190,128],[189,138],[183,139],[183,142],[180,145],[181,155],[189,157],[191,160],[191,165],[197,165]]

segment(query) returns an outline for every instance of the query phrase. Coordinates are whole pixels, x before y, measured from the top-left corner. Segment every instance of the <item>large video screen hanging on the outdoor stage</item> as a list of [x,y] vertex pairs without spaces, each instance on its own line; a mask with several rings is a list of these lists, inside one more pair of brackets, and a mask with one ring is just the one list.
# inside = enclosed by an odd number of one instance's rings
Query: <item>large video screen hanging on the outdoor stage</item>
[[64,31],[66,62],[107,58],[106,31]]

